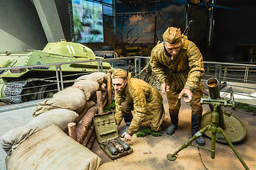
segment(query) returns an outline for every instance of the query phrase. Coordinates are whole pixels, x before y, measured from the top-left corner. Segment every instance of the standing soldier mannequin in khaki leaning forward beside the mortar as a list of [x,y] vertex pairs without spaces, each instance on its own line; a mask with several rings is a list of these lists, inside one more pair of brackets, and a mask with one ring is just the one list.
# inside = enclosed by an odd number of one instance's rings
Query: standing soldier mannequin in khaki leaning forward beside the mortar
[[[178,111],[181,108],[181,96],[191,105],[191,133],[198,132],[201,125],[204,85],[201,77],[204,74],[203,57],[198,47],[181,35],[178,28],[169,27],[163,35],[164,42],[159,43],[151,52],[152,71],[161,83],[161,91],[166,94],[169,103],[171,125],[167,135],[173,135],[178,128]],[[203,137],[196,139],[198,145],[205,144]]]

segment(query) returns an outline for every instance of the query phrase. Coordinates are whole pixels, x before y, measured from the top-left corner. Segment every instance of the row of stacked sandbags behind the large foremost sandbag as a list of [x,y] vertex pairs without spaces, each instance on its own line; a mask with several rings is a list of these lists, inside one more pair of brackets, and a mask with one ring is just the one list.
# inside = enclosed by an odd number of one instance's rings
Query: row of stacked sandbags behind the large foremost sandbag
[[61,130],[67,132],[68,123],[78,123],[87,110],[95,105],[91,98],[96,96],[100,86],[104,86],[106,74],[93,73],[82,77],[84,78],[78,78],[73,86],[54,94],[53,98],[38,103],[33,113],[36,118],[30,123],[9,130],[1,137],[1,145],[8,155],[39,130],[50,125],[58,125]]

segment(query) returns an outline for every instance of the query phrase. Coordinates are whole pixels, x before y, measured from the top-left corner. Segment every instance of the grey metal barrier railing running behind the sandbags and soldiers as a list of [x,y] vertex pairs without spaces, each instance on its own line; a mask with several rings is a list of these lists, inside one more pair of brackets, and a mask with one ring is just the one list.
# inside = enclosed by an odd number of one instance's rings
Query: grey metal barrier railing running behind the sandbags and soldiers
[[[78,62],[59,62],[59,63],[53,63],[53,64],[40,64],[40,65],[32,65],[32,66],[0,68],[0,72],[6,71],[9,69],[24,69],[24,68],[33,69],[35,67],[55,66],[55,76],[46,77],[44,78],[44,80],[46,81],[48,79],[47,81],[49,83],[51,83],[52,85],[55,84],[57,86],[57,89],[51,89],[50,91],[61,91],[65,88],[64,84],[66,82],[63,80],[63,78],[78,77],[83,74],[88,74],[88,72],[80,72],[78,74],[63,75],[62,66],[64,64],[97,62],[97,69],[95,69],[95,72],[103,72],[104,69],[102,67],[102,63],[110,62],[112,64],[113,69],[122,68],[122,69],[129,70],[129,67],[130,67],[132,68],[132,71],[135,74],[137,74],[142,71],[144,64],[146,64],[145,60],[149,61],[149,59],[150,57],[134,56],[134,57],[122,57],[122,58],[111,58],[111,59],[100,59],[100,60],[87,60],[87,61],[78,61]],[[128,62],[129,60],[132,61],[132,65],[130,66]],[[142,62],[142,60],[144,61]],[[237,82],[242,82],[243,84],[256,84],[256,65],[254,64],[234,64],[234,63],[226,63],[226,62],[203,62],[203,63],[206,70],[206,73],[204,74],[203,79],[208,79],[209,77],[215,77],[219,80],[220,84],[221,84],[221,81],[234,81],[234,82],[237,81]],[[33,81],[33,79],[36,79],[36,77],[33,77],[31,81]],[[40,80],[40,79],[38,78],[37,80]],[[73,81],[74,79],[69,79],[69,82],[73,82]],[[2,83],[2,84],[8,84],[8,83],[9,82]],[[2,84],[0,84],[0,87]],[[252,91],[256,91],[256,85],[255,86],[237,86],[237,85],[230,84],[230,86],[251,89]],[[33,88],[38,88],[38,86],[28,86],[26,88],[33,89]],[[3,94],[4,88],[1,88],[0,90],[1,90],[0,93]],[[45,91],[45,92],[49,92],[49,91]],[[21,94],[20,96],[28,96],[36,93],[40,94],[42,92],[36,91],[28,94]],[[4,98],[0,98],[0,100],[2,99]]]

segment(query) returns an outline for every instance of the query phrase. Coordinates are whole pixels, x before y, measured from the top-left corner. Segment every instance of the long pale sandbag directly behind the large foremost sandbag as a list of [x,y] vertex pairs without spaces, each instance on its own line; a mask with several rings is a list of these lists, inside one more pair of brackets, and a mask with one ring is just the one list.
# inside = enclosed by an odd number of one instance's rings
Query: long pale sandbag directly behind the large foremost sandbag
[[38,115],[27,125],[9,130],[1,136],[0,142],[7,155],[11,155],[14,149],[18,147],[26,138],[34,133],[47,128],[50,125],[58,125],[63,131],[68,131],[68,123],[75,122],[78,119],[78,113],[68,109],[58,108]]

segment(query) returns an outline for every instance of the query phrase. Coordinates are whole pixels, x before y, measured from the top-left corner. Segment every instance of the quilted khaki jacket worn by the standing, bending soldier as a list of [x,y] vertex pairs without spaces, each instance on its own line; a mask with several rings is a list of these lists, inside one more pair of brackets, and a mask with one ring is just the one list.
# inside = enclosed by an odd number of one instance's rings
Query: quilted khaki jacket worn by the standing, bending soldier
[[193,42],[184,38],[181,42],[181,52],[176,58],[166,55],[163,43],[156,45],[151,51],[151,69],[160,83],[166,82],[172,91],[193,91],[205,72],[203,57]]

